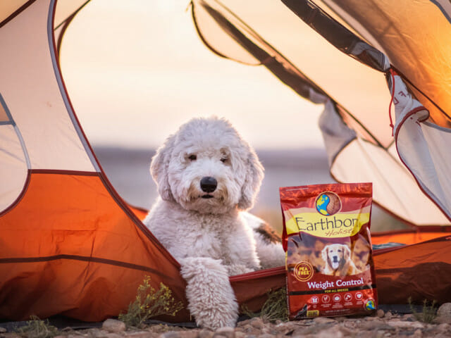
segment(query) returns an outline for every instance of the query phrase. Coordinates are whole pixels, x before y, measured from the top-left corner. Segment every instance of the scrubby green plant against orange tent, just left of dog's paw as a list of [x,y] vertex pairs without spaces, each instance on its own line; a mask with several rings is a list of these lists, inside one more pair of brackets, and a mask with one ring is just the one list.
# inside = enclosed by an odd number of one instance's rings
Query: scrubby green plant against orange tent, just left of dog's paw
[[150,284],[150,277],[145,276],[137,288],[135,301],[130,302],[127,313],[119,315],[119,320],[127,327],[137,327],[157,315],[175,315],[182,308],[183,303],[174,300],[171,289],[160,283],[160,289],[156,290]]

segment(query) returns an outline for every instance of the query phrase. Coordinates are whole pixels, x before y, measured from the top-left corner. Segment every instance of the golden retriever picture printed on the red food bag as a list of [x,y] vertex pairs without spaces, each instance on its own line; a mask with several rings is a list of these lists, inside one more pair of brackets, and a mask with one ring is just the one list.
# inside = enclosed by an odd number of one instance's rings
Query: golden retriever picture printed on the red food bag
[[332,276],[349,276],[361,273],[351,259],[351,250],[345,244],[328,244],[321,251],[325,263],[321,273]]

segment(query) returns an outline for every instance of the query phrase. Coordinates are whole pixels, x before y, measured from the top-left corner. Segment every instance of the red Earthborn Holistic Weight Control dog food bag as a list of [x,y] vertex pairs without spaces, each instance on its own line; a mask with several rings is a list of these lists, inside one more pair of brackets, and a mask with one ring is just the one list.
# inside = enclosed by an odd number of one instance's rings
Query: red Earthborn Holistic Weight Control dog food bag
[[280,188],[290,319],[369,314],[371,183]]

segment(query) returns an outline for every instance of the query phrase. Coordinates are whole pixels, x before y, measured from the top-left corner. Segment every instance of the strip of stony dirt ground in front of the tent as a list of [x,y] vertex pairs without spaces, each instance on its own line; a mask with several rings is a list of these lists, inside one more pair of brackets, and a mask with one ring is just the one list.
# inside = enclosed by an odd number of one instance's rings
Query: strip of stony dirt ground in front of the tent
[[[418,313],[421,317],[421,313]],[[422,319],[422,318],[420,318]],[[0,327],[1,338],[20,337]],[[2,332],[3,331],[3,332]],[[30,337],[33,337],[32,335]],[[88,330],[59,330],[57,338],[245,338],[245,337],[451,337],[451,303],[445,303],[431,323],[424,323],[413,314],[392,314],[378,310],[364,317],[314,318],[308,320],[270,323],[262,318],[241,320],[236,327],[223,327],[216,331],[166,324],[144,325],[139,329],[126,329],[119,320],[106,320],[101,327]]]

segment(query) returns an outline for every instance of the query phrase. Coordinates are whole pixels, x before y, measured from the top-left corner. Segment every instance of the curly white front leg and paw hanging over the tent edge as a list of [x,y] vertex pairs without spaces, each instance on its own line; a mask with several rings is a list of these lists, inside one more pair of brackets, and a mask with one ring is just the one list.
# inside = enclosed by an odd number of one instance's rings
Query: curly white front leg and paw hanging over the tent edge
[[183,258],[180,272],[187,282],[188,309],[197,325],[210,330],[235,327],[238,304],[221,261],[212,258]]

